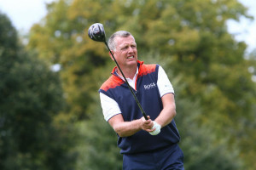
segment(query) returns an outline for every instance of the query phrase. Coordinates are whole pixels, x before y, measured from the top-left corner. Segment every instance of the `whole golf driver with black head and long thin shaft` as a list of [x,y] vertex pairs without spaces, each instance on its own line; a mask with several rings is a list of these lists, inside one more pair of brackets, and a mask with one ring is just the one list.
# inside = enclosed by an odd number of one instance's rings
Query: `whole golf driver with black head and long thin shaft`
[[[88,29],[88,36],[90,37],[90,39],[92,39],[92,40],[94,40],[96,42],[104,42],[106,44],[110,54],[113,57],[113,54],[112,54],[110,48],[108,47],[108,43],[106,42],[106,35],[105,35],[104,27],[103,27],[103,25],[101,23],[95,23],[95,24],[91,25],[90,28]],[[145,111],[143,110],[142,105],[140,104],[140,102],[138,101],[136,95],[134,94],[134,92],[133,92],[129,82],[127,82],[126,77],[125,77],[123,71],[121,70],[118,62],[116,61],[116,59],[114,57],[113,57],[113,60],[114,60],[115,64],[118,66],[119,71],[121,72],[122,76],[124,77],[125,83],[127,84],[128,88],[130,89],[131,94],[133,95],[133,98],[136,100],[136,103],[137,103],[138,107],[142,111],[144,118],[146,120],[148,120],[148,117],[147,117]]]

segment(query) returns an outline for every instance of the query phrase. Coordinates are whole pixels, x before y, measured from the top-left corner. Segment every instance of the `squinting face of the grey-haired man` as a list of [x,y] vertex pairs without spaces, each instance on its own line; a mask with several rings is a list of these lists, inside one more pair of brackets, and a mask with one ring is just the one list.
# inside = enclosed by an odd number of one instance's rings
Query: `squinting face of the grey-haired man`
[[120,67],[137,65],[137,44],[133,37],[115,37],[113,56]]

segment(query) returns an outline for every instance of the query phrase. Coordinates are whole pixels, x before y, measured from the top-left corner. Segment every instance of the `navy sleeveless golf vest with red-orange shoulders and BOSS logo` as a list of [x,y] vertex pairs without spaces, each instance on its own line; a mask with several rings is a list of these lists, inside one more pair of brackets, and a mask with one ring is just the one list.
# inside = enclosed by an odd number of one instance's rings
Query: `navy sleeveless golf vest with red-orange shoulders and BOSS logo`
[[[157,87],[158,71],[160,65],[144,65],[143,61],[137,61],[138,75],[134,94],[143,107],[143,110],[152,120],[159,116],[163,109],[159,88]],[[125,122],[140,119],[142,113],[137,106],[130,89],[124,80],[112,71],[112,76],[102,84],[99,93],[107,95],[115,100]],[[166,146],[177,144],[180,140],[175,121],[172,120],[161,132],[153,136],[146,131],[139,131],[129,137],[118,136],[118,146],[121,154],[141,153],[150,150],[159,150]]]

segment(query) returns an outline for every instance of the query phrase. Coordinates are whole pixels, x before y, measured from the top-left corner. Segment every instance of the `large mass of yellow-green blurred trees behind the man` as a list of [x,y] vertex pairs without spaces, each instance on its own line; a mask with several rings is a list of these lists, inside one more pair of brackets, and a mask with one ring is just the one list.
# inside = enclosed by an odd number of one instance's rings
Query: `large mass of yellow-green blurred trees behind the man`
[[80,129],[82,141],[75,149],[78,169],[114,169],[113,161],[119,160],[112,129],[97,123],[102,119],[94,98],[113,64],[104,44],[87,37],[96,22],[105,26],[107,37],[131,31],[139,59],[164,66],[177,89],[177,127],[188,169],[256,167],[255,122],[250,121],[255,119],[255,72],[248,72],[255,68],[255,57],[244,58],[246,44],[236,42],[225,25],[241,16],[251,18],[241,3],[60,0],[49,4],[48,11],[44,22],[32,27],[28,48],[40,59],[61,65],[67,120]]

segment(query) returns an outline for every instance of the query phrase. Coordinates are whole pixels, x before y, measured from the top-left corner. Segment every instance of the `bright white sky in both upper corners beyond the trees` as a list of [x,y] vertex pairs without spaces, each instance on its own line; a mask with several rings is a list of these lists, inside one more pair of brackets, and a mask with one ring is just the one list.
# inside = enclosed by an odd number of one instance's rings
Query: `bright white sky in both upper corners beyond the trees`
[[[45,3],[56,0],[0,0],[0,11],[7,14],[18,31],[28,32],[31,26],[38,23],[47,13]],[[245,41],[247,51],[256,48],[256,1],[238,0],[244,4],[248,14],[252,14],[255,20],[242,19],[240,23],[228,22],[230,33],[234,34],[237,41]]]

